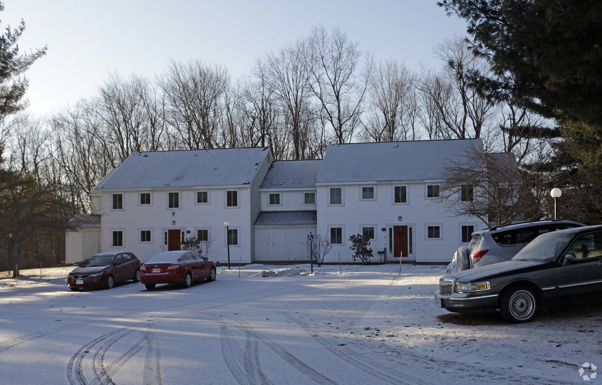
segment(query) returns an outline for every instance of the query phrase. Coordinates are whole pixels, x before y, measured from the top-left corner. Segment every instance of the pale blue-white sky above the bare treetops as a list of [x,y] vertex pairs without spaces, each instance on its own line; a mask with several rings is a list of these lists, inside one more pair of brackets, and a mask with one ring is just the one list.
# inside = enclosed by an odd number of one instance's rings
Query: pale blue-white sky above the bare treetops
[[152,78],[171,59],[226,66],[247,75],[256,58],[334,26],[377,61],[440,67],[435,45],[466,35],[435,0],[5,0],[3,30],[21,19],[22,52],[48,46],[26,73],[29,110],[58,112],[96,93],[116,70]]

